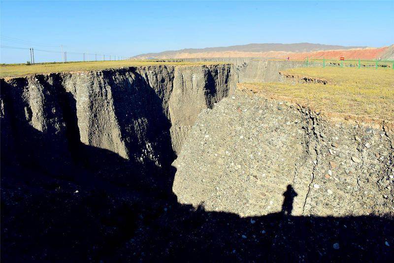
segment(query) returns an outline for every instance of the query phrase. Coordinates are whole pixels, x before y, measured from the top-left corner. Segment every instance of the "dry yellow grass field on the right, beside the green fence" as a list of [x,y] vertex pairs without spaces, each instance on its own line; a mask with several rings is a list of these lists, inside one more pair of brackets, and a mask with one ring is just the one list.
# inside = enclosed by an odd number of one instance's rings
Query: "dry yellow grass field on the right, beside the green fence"
[[291,100],[330,116],[394,123],[394,70],[373,68],[293,68],[285,73],[329,80],[323,84],[253,83],[239,88]]

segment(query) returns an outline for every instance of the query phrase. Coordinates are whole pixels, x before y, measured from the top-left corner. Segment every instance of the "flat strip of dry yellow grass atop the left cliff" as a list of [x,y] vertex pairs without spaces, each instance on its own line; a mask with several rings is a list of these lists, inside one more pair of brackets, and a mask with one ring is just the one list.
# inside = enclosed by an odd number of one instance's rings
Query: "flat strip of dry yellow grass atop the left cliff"
[[39,65],[10,65],[0,66],[0,77],[14,77],[28,74],[67,72],[67,71],[88,71],[106,68],[118,68],[125,66],[187,66],[187,65],[212,65],[221,64],[217,62],[156,62],[156,61],[95,61],[95,62],[73,62],[66,64],[39,64]]

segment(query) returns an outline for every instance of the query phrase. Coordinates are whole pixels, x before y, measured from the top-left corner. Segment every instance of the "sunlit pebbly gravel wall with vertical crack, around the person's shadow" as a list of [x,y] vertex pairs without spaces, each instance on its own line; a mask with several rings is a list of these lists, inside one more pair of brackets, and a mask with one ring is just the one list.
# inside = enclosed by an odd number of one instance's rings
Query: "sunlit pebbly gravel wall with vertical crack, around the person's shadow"
[[182,152],[178,201],[240,216],[393,214],[390,133],[237,90],[203,111]]

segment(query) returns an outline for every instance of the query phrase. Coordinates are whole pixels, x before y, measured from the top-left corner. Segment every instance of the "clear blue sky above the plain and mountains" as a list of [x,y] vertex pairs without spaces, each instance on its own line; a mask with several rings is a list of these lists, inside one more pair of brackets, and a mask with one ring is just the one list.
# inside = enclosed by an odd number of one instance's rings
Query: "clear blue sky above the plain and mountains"
[[[125,56],[248,43],[310,42],[373,47],[394,44],[394,1],[1,1],[0,4],[1,46],[33,47],[37,49],[35,62],[60,61],[61,44],[67,52]],[[0,51],[1,63],[30,60],[30,51],[26,49]],[[82,54],[68,53],[67,57],[83,59]]]

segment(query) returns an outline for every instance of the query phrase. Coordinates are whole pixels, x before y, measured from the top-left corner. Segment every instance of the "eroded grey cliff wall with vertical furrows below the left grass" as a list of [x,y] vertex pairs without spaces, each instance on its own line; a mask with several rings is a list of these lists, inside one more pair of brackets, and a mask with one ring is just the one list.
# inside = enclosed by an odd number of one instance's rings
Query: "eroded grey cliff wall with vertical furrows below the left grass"
[[[72,162],[78,144],[135,163],[170,164],[198,113],[235,87],[231,65],[225,64],[128,67],[0,81],[2,157],[48,169],[56,160]],[[15,156],[17,160],[11,160]]]

